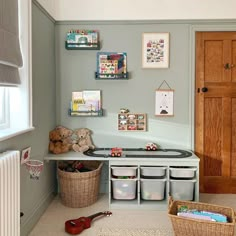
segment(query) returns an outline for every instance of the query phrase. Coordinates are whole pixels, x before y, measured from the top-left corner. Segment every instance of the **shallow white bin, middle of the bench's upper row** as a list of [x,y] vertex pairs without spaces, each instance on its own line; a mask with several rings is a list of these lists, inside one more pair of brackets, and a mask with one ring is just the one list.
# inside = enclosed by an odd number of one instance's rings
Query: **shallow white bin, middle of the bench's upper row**
[[141,166],[140,174],[142,178],[163,178],[166,175],[165,166]]

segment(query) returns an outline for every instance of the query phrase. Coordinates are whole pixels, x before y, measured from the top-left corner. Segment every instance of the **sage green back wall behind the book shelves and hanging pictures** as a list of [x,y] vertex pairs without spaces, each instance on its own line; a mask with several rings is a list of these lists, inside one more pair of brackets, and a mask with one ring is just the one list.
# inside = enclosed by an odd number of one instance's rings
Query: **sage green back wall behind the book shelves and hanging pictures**
[[[69,128],[87,127],[93,131],[96,146],[137,146],[154,141],[162,147],[190,148],[189,103],[189,24],[151,22],[57,22],[56,77],[57,123]],[[66,33],[70,29],[96,29],[100,32],[103,52],[127,52],[130,79],[125,81],[95,80],[94,50],[66,50]],[[142,69],[143,32],[170,33],[170,67]],[[155,116],[155,90],[166,81],[174,89],[174,116]],[[162,88],[167,88],[166,85]],[[105,116],[69,117],[71,92],[85,89],[102,90]],[[117,113],[121,107],[131,112],[147,113],[147,132],[117,131]]]

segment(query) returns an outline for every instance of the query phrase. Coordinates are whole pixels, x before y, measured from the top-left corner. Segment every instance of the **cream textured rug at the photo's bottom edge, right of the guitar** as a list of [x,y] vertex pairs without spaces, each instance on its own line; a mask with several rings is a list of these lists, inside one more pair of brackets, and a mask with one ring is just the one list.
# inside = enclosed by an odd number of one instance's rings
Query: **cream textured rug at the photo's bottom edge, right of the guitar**
[[173,236],[171,229],[98,229],[97,236]]

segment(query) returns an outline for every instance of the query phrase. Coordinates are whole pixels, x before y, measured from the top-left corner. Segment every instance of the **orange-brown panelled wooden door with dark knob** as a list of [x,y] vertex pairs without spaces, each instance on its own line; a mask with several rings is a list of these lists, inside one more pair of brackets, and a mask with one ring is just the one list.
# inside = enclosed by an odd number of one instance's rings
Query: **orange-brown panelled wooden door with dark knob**
[[200,192],[236,193],[236,32],[196,33]]

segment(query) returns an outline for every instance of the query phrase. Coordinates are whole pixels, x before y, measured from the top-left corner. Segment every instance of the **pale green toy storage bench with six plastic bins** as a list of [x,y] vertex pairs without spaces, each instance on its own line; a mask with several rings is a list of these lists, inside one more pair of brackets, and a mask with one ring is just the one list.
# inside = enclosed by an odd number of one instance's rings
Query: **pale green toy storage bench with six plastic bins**
[[106,180],[110,208],[167,210],[174,200],[199,200],[199,158],[89,157],[82,153],[48,154],[49,160],[107,162]]

